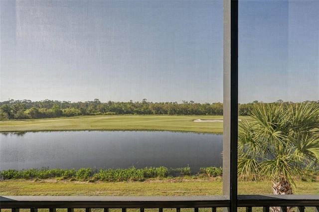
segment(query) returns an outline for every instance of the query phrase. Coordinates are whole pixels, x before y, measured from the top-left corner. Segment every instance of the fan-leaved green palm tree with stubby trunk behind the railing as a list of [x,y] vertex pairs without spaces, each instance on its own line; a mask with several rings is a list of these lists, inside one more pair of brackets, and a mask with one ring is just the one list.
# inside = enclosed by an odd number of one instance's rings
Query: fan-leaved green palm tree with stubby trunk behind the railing
[[256,104],[251,113],[239,123],[238,174],[271,180],[274,194],[293,194],[296,175],[319,165],[319,106]]

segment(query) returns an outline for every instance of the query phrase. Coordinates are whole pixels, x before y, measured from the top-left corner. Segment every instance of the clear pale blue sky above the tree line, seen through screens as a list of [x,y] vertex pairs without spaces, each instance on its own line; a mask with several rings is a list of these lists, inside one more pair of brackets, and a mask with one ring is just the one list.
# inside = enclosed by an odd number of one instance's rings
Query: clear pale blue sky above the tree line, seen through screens
[[[239,1],[239,102],[319,100],[319,1]],[[0,0],[0,102],[223,102],[222,0]]]

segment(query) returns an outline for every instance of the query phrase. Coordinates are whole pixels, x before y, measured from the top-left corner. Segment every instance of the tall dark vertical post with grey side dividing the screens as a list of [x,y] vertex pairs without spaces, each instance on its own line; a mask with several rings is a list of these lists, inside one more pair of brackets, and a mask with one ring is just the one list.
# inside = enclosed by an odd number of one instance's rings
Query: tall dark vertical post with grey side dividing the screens
[[223,195],[237,211],[238,0],[224,0]]

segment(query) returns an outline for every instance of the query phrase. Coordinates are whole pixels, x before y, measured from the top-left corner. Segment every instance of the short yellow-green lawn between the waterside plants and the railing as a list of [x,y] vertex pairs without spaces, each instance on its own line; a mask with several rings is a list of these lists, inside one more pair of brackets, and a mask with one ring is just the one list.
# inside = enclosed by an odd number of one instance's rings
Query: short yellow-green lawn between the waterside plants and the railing
[[[294,194],[318,194],[318,182],[296,182]],[[238,194],[272,194],[271,182],[239,182]],[[198,196],[221,195],[222,179],[151,179],[144,182],[79,182],[6,180],[0,196]]]

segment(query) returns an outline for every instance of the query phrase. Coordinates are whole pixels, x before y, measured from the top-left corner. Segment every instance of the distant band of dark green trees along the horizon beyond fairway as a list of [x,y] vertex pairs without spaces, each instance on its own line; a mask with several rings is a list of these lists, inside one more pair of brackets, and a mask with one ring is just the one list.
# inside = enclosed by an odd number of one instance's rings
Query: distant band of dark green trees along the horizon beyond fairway
[[[319,106],[319,101],[314,103]],[[250,115],[254,101],[248,104],[239,104],[239,115]],[[292,102],[279,100],[272,104],[296,105]],[[70,117],[77,115],[121,115],[121,114],[152,114],[152,115],[223,115],[222,103],[195,103],[193,101],[177,102],[100,102],[99,99],[87,102],[71,103],[67,101],[44,100],[32,102],[30,100],[9,100],[0,103],[0,119],[28,119]]]

